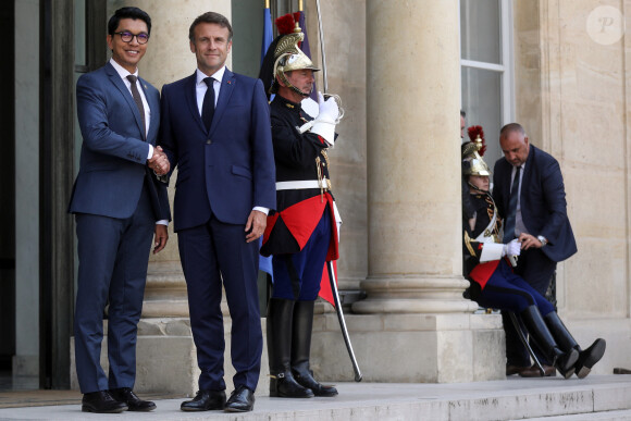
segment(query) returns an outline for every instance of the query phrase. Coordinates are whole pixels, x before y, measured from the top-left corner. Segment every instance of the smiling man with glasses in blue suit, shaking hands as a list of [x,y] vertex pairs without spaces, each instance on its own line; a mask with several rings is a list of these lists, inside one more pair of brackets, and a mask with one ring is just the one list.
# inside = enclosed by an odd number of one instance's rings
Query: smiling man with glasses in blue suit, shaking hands
[[[154,147],[160,95],[138,78],[151,20],[137,8],[119,9],[108,24],[112,59],[76,86],[84,138],[70,212],[75,214],[78,286],[75,358],[83,411],[150,411],[133,392],[136,334],[143,309],[151,238],[164,248],[171,219],[166,185],[157,179],[169,161]],[[100,366],[108,310],[109,375]]]

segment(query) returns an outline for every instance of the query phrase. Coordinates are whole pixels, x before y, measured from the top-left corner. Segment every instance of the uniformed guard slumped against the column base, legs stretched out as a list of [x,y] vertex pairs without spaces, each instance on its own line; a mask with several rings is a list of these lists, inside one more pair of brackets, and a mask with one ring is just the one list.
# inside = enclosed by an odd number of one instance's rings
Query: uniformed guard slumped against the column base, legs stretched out
[[[480,140],[480,139],[479,139]],[[553,305],[512,272],[510,259],[520,255],[515,239],[502,244],[495,202],[488,191],[490,171],[479,154],[482,141],[462,145],[462,176],[471,194],[474,213],[463,219],[465,275],[471,282],[470,298],[480,306],[509,310],[521,317],[544,355],[566,379],[574,372],[585,377],[605,354],[605,340],[583,350],[559,319]]]

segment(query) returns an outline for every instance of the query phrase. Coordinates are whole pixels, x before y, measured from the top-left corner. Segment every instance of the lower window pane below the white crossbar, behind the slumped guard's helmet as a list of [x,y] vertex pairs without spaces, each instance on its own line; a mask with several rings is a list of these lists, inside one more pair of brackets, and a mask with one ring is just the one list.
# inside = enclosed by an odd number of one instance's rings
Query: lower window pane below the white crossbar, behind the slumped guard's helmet
[[[502,128],[502,74],[498,72],[462,67],[462,109],[467,112],[467,127],[480,125],[486,143],[485,161],[493,170],[502,157],[499,129]],[[465,132],[465,140],[469,140]]]

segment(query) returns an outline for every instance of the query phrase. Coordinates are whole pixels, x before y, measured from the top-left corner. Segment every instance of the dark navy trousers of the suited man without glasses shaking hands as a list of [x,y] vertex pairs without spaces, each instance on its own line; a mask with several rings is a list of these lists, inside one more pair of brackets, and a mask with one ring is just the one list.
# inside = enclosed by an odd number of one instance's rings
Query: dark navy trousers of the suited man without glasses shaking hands
[[200,391],[224,391],[222,280],[232,319],[233,383],[257,388],[263,337],[257,285],[259,242],[246,243],[245,225],[214,215],[203,225],[177,233],[186,278],[190,327],[201,371]]

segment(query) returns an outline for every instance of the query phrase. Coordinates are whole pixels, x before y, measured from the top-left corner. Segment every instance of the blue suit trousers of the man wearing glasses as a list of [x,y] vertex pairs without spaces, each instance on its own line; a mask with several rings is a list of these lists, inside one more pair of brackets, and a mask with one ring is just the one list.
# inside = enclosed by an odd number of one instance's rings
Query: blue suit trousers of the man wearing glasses
[[[75,359],[82,393],[134,387],[136,335],[156,219],[147,186],[126,219],[76,213],[78,283]],[[103,313],[108,310],[109,375],[101,364]]]

